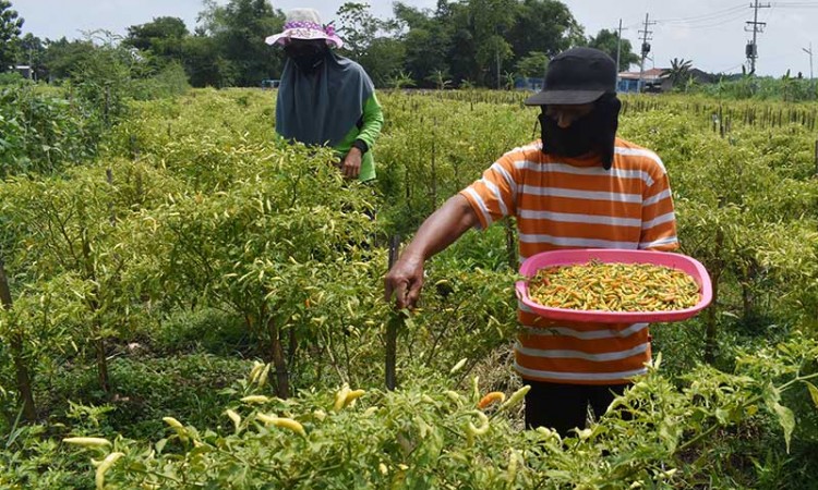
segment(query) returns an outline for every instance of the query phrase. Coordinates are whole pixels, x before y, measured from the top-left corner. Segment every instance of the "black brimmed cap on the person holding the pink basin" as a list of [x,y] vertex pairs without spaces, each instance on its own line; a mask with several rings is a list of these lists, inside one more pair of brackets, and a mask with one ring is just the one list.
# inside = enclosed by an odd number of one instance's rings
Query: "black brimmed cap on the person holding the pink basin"
[[572,48],[549,63],[543,89],[526,106],[590,103],[604,94],[616,94],[616,63],[593,48]]

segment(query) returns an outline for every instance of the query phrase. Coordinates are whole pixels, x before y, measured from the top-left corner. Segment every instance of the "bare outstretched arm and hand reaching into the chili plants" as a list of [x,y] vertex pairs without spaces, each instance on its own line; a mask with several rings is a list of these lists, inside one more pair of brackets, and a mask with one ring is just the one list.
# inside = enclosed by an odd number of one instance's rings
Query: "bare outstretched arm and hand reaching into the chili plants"
[[433,255],[479,224],[477,213],[461,195],[450,197],[420,225],[414,238],[384,278],[385,298],[398,308],[413,307],[423,287],[423,265]]

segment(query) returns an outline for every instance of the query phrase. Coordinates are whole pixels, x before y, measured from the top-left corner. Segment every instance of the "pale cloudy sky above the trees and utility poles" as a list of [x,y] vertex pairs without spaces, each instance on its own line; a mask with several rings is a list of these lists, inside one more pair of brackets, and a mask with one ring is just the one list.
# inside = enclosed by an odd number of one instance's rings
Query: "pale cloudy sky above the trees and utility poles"
[[[358,0],[363,1],[363,0]],[[757,0],[563,0],[587,35],[600,29],[615,29],[619,20],[623,39],[631,42],[635,51],[641,45],[646,15],[650,58],[646,69],[669,68],[672,59],[689,60],[693,66],[710,73],[739,73],[746,62],[745,45],[753,38],[746,24],[753,21]],[[43,39],[82,38],[83,32],[106,29],[124,35],[131,25],[151,22],[159,16],[184,21],[193,30],[196,16],[203,10],[202,0],[11,0],[12,9],[25,20],[24,33]],[[436,0],[402,0],[405,4],[433,9]],[[225,4],[227,0],[217,0]],[[324,22],[336,16],[344,0],[273,0],[276,9],[287,11],[298,7],[318,10]],[[810,76],[810,59],[818,63],[818,0],[786,0],[758,2],[769,5],[758,9],[758,22],[765,22],[758,34],[759,75],[782,76],[787,70],[794,76],[802,72]],[[375,16],[392,16],[392,1],[370,0]],[[655,22],[655,24],[653,24]],[[813,26],[810,28],[810,26]],[[274,34],[274,33],[270,33]],[[810,45],[815,45],[813,47]],[[638,66],[631,66],[638,70]],[[818,75],[818,65],[815,66]]]

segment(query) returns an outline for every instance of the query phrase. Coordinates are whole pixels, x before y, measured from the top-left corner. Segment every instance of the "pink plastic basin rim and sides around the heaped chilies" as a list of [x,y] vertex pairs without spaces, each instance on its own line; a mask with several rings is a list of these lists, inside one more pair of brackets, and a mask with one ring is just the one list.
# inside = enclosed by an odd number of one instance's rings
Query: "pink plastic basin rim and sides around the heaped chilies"
[[699,302],[696,306],[671,311],[603,311],[568,308],[550,308],[528,297],[528,281],[517,281],[517,297],[532,313],[552,320],[589,321],[598,323],[636,323],[655,321],[679,321],[701,311],[713,298],[713,289],[707,269],[698,260],[682,254],[651,250],[625,250],[618,248],[582,248],[574,250],[543,252],[526,259],[520,274],[532,278],[537,271],[548,267],[573,266],[598,260],[606,264],[652,264],[678,269],[693,277],[699,284]]

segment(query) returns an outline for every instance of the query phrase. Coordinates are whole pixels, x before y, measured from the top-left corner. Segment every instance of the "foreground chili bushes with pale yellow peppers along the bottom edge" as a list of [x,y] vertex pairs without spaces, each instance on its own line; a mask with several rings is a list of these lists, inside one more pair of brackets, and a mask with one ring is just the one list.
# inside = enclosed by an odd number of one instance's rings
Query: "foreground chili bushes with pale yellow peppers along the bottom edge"
[[[168,436],[149,452],[137,441],[117,439],[112,451],[123,453],[123,463],[104,476],[123,486],[178,488],[693,488],[710,475],[720,487],[743,486],[741,471],[717,457],[724,455],[724,441],[734,440],[734,428],[762,417],[781,421],[789,438],[794,419],[778,396],[816,376],[797,375],[797,359],[818,354],[815,342],[765,351],[775,352],[753,358],[735,375],[697,369],[681,391],[651,369],[599,424],[565,440],[544,428],[514,429],[508,413],[517,396],[486,413],[476,409],[476,378],[466,391],[445,376],[423,372],[422,387],[357,392],[360,403],[349,403],[346,385],[284,401],[254,394],[260,365],[232,390],[241,400],[228,406],[221,424],[197,429],[166,418]],[[773,385],[767,373],[754,378],[759,368],[789,380]],[[747,463],[755,456],[729,455]]]

